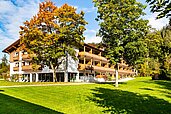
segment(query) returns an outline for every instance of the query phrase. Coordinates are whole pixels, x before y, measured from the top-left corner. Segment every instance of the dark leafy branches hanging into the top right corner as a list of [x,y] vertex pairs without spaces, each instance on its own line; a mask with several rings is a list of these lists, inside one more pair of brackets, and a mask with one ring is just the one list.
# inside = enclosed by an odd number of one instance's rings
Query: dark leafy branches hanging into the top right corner
[[151,12],[159,12],[157,19],[171,16],[170,0],[146,0],[146,2],[149,3]]

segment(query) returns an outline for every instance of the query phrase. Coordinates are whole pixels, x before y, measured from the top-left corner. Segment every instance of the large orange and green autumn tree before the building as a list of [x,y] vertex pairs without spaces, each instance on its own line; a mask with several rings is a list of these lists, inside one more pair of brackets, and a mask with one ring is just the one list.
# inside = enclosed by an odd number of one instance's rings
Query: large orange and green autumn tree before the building
[[20,26],[21,44],[36,55],[34,63],[51,66],[56,81],[56,71],[66,56],[76,59],[74,48],[83,44],[86,24],[84,12],[76,13],[67,4],[58,8],[51,1],[42,2],[37,15]]

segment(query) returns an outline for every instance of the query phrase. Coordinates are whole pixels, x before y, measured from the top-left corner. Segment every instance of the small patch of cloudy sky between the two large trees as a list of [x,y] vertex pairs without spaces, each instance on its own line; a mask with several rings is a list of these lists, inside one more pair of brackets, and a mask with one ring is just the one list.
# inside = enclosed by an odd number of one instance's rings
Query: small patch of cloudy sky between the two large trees
[[84,33],[85,43],[100,43],[102,41],[101,37],[96,36],[97,30],[87,29]]

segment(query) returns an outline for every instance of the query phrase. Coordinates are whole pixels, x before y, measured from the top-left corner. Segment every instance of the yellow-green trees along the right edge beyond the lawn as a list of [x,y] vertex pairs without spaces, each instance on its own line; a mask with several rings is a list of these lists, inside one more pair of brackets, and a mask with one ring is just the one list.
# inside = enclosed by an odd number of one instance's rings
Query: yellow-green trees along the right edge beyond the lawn
[[[148,49],[145,62],[140,67],[144,75],[159,75],[160,79],[167,79],[171,69],[171,30],[170,26],[163,27],[160,31],[147,34],[144,43]],[[146,66],[143,66],[146,65]]]

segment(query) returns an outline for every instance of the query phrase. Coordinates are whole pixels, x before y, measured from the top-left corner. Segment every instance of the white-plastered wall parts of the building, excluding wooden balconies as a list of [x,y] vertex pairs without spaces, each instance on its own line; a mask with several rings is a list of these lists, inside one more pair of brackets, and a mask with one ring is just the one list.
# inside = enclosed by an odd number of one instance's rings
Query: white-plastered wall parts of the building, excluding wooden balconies
[[[75,49],[77,55],[78,56],[78,49]],[[36,75],[36,82],[39,81],[39,74],[47,74],[47,73],[53,73],[53,70],[49,68],[49,66],[44,65],[44,68],[41,71],[38,72],[30,72],[30,71],[22,71],[22,66],[24,65],[30,65],[28,61],[23,61],[22,59],[22,51],[20,51],[19,53],[16,53],[16,56],[19,56],[19,60],[18,61],[14,61],[10,63],[10,76],[14,75],[14,74],[19,74],[19,75],[26,75],[24,77],[24,79],[26,79],[27,81],[29,80],[30,82],[33,81],[33,74]],[[66,61],[67,60],[67,61]],[[67,63],[66,63],[67,62]],[[67,64],[67,67],[66,67]],[[78,64],[79,61],[78,60],[74,60],[70,55],[67,56],[67,58],[65,58],[65,61],[59,66],[59,68],[57,69],[57,73],[64,73],[64,81],[68,82],[68,73],[75,73],[76,74],[76,80],[79,80],[79,71],[78,71]],[[17,71],[14,71],[14,67],[18,67]],[[19,79],[20,82],[22,82],[22,78]]]

